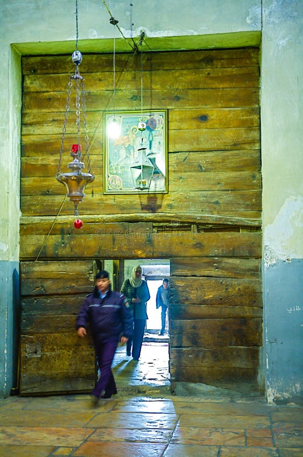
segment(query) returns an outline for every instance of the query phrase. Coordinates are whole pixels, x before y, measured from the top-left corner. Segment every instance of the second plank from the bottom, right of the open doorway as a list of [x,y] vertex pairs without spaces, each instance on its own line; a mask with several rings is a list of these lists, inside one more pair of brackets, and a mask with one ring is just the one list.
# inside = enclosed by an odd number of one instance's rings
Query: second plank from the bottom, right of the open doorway
[[199,367],[254,368],[259,361],[258,347],[224,347],[219,349],[171,348],[170,367],[176,372],[179,367],[190,371]]

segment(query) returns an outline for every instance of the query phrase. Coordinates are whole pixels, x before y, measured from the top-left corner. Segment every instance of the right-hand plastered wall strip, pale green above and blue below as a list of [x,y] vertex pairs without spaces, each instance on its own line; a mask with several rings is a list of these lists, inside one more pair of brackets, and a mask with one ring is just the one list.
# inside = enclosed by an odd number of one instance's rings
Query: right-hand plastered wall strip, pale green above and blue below
[[302,2],[262,2],[263,333],[270,403],[302,399],[302,18]]

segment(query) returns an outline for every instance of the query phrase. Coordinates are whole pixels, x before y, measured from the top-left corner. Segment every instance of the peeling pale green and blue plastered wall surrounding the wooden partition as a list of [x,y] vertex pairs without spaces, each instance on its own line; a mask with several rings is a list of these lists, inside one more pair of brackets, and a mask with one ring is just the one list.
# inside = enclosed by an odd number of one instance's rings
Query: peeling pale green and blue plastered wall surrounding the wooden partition
[[[302,75],[302,3],[294,0],[194,0],[190,5],[172,0],[152,4],[108,0],[107,6],[127,37],[143,29],[153,49],[198,49],[255,46],[261,38],[261,133],[263,179],[264,371],[270,402],[301,395],[299,353],[302,327],[302,144],[300,77]],[[0,321],[0,396],[15,383],[15,333],[10,311],[15,306],[10,284],[19,259],[19,151],[21,54],[71,53],[75,40],[75,1],[0,4],[2,71],[0,111],[2,167],[0,188],[0,260],[2,275]],[[102,2],[79,0],[79,47],[83,52],[112,50],[112,26]],[[119,40],[117,50],[128,45]],[[291,271],[290,271],[291,270]],[[288,281],[289,274],[293,283]],[[298,278],[296,281],[295,278]],[[277,286],[278,284],[278,286]],[[279,290],[286,290],[281,296]],[[299,309],[300,308],[300,309]],[[292,311],[287,311],[291,309]],[[293,310],[294,309],[294,310]],[[285,311],[286,310],[286,311]],[[294,316],[281,326],[285,316]],[[301,319],[301,320],[300,320]],[[295,332],[293,332],[295,330]],[[293,339],[289,339],[289,332]],[[274,346],[271,341],[277,340]],[[287,360],[281,364],[282,351]],[[295,348],[294,350],[292,350]],[[292,350],[292,351],[291,351]],[[281,352],[282,351],[282,352]],[[300,357],[298,359],[298,357]],[[291,376],[289,377],[289,369]]]

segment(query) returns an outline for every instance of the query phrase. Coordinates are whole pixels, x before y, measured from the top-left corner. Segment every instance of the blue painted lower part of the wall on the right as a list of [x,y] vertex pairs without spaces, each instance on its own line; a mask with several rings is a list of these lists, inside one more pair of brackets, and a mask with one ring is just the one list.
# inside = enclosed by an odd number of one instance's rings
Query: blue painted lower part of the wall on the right
[[303,403],[303,261],[263,271],[264,350],[269,403]]

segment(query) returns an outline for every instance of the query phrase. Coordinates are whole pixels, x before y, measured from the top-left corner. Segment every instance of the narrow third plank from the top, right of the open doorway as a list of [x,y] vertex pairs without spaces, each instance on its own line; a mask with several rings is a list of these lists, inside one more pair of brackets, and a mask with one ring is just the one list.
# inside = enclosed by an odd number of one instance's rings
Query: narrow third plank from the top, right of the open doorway
[[262,297],[255,295],[255,303],[252,306],[253,298],[247,299],[244,297],[243,302],[247,303],[248,306],[245,306],[241,302],[237,306],[236,303],[226,305],[191,305],[191,304],[172,304],[170,308],[170,319],[179,320],[179,319],[231,319],[231,318],[250,318],[250,317],[262,317]]

